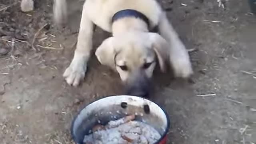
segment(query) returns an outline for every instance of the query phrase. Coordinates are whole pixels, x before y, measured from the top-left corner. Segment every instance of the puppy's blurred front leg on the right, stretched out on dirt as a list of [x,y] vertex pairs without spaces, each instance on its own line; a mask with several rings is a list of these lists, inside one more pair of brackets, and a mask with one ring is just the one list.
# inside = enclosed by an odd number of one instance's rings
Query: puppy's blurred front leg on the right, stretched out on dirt
[[188,52],[165,13],[162,14],[158,26],[160,35],[170,44],[170,63],[175,76],[188,78],[193,74]]

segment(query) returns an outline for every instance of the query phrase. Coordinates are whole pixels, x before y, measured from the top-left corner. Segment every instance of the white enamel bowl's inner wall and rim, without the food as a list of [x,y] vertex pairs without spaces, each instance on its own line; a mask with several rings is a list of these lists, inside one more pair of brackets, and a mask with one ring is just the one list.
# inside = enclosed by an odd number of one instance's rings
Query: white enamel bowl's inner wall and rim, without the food
[[106,125],[130,114],[135,114],[135,120],[149,124],[160,133],[161,138],[156,144],[166,144],[170,127],[168,114],[156,103],[137,96],[109,96],[84,107],[72,122],[72,138],[77,144],[83,144],[84,136],[90,134],[96,124]]

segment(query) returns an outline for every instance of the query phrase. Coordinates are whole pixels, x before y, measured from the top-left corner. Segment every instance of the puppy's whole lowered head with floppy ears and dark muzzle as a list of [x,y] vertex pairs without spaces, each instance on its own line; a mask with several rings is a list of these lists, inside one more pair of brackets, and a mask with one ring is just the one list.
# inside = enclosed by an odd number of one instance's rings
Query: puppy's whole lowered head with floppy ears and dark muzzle
[[128,94],[147,96],[156,62],[166,70],[168,43],[156,33],[138,32],[107,38],[96,50],[101,64],[117,70]]

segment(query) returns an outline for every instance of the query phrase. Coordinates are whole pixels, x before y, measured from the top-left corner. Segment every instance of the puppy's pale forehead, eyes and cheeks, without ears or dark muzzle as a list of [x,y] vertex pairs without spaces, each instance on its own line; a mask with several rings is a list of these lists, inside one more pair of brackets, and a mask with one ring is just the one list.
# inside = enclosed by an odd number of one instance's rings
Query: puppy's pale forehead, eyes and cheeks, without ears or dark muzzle
[[156,66],[154,50],[141,43],[127,42],[122,44],[120,51],[114,56],[115,68],[122,81],[126,82],[136,73],[151,78]]

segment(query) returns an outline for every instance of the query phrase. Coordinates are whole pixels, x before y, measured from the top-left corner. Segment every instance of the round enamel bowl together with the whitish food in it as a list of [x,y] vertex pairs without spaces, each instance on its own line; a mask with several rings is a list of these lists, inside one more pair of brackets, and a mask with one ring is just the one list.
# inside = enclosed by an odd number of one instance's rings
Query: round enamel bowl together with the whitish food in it
[[169,127],[168,114],[156,103],[137,96],[108,96],[80,110],[71,135],[76,144],[167,144]]

